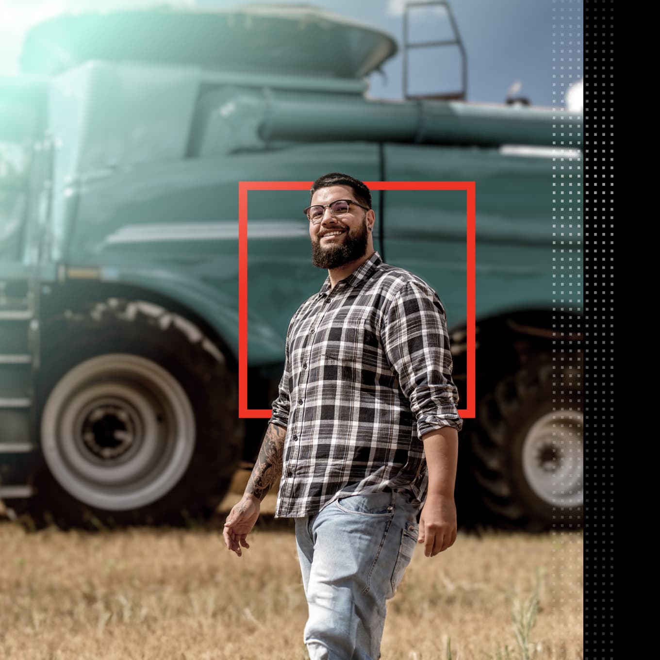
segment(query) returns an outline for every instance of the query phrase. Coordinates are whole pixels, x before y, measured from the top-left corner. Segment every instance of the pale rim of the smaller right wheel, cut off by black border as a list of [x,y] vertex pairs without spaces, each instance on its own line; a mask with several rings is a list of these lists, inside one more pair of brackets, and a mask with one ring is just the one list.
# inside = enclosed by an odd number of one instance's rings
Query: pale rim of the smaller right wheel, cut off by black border
[[554,411],[539,418],[523,442],[523,473],[546,504],[582,506],[582,413]]

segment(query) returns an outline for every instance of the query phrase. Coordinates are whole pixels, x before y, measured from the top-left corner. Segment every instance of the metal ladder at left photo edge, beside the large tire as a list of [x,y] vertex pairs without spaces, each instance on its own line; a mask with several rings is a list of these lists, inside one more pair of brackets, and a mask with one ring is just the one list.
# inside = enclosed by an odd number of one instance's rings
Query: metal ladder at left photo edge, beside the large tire
[[0,499],[34,494],[34,372],[39,356],[38,277],[34,266],[0,265]]

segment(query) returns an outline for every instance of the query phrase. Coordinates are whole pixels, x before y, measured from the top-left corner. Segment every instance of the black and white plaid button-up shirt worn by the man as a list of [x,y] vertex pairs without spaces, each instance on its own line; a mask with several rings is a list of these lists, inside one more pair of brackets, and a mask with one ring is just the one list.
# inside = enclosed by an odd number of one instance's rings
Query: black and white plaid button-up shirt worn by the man
[[426,499],[422,436],[461,430],[438,294],[374,252],[293,315],[271,424],[286,427],[275,517],[408,486]]

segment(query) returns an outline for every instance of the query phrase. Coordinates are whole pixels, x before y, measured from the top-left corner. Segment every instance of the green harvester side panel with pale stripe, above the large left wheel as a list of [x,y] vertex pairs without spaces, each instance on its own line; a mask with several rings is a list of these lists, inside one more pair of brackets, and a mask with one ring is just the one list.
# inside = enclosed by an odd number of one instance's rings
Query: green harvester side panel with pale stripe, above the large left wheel
[[[310,180],[341,168],[378,179],[378,145],[304,145],[96,178],[77,192],[65,260],[180,301],[238,354],[238,181],[282,180],[283,173]],[[308,199],[300,191],[249,195],[249,364],[281,361],[291,315],[327,276],[310,265]],[[375,203],[380,213],[376,196]]]

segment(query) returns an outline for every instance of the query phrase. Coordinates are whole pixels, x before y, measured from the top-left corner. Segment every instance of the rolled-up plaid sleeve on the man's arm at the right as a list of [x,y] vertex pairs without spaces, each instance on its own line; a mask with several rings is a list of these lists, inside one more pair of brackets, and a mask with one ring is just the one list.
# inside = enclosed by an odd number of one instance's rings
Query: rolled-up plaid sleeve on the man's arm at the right
[[383,319],[381,341],[416,416],[419,438],[443,426],[461,430],[447,317],[438,294],[417,281],[403,284]]

